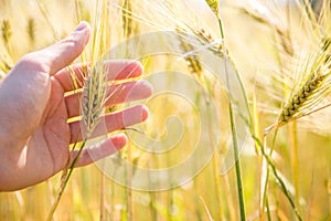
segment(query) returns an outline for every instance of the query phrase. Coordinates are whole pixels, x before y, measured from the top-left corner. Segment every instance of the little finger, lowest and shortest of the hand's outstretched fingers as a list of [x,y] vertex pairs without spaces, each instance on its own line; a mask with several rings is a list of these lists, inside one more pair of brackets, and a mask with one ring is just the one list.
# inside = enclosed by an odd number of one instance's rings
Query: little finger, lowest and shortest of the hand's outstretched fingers
[[[102,143],[98,143],[93,147],[84,148],[81,152],[81,156],[75,167],[83,167],[94,161],[97,161],[99,159],[103,159],[105,157],[108,157],[109,155],[113,155],[117,150],[125,147],[128,138],[124,134],[120,134],[120,135],[113,136]],[[78,150],[74,150],[71,152],[70,165],[73,164],[73,160],[77,157],[77,154]]]

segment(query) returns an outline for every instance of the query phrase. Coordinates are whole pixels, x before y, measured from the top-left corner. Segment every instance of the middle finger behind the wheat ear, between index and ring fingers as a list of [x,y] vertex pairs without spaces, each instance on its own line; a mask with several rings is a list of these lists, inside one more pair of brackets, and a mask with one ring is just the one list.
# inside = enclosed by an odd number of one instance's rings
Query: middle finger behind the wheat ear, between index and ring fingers
[[[147,81],[127,82],[124,84],[108,86],[107,102],[105,107],[147,98],[152,88]],[[65,97],[68,118],[79,116],[82,93],[75,93]]]

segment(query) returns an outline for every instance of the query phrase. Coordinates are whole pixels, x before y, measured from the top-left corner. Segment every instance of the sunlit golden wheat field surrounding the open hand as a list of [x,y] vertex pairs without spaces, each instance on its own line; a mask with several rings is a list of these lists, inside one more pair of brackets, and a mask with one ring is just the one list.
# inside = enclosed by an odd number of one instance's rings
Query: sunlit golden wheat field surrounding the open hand
[[[151,118],[124,128],[130,143],[110,166],[75,169],[51,219],[331,220],[331,1],[313,2],[0,0],[0,78],[87,21],[99,41],[75,63],[135,59],[154,87],[138,102]],[[185,159],[174,178],[139,173]],[[45,220],[61,176],[0,192],[0,220]]]

